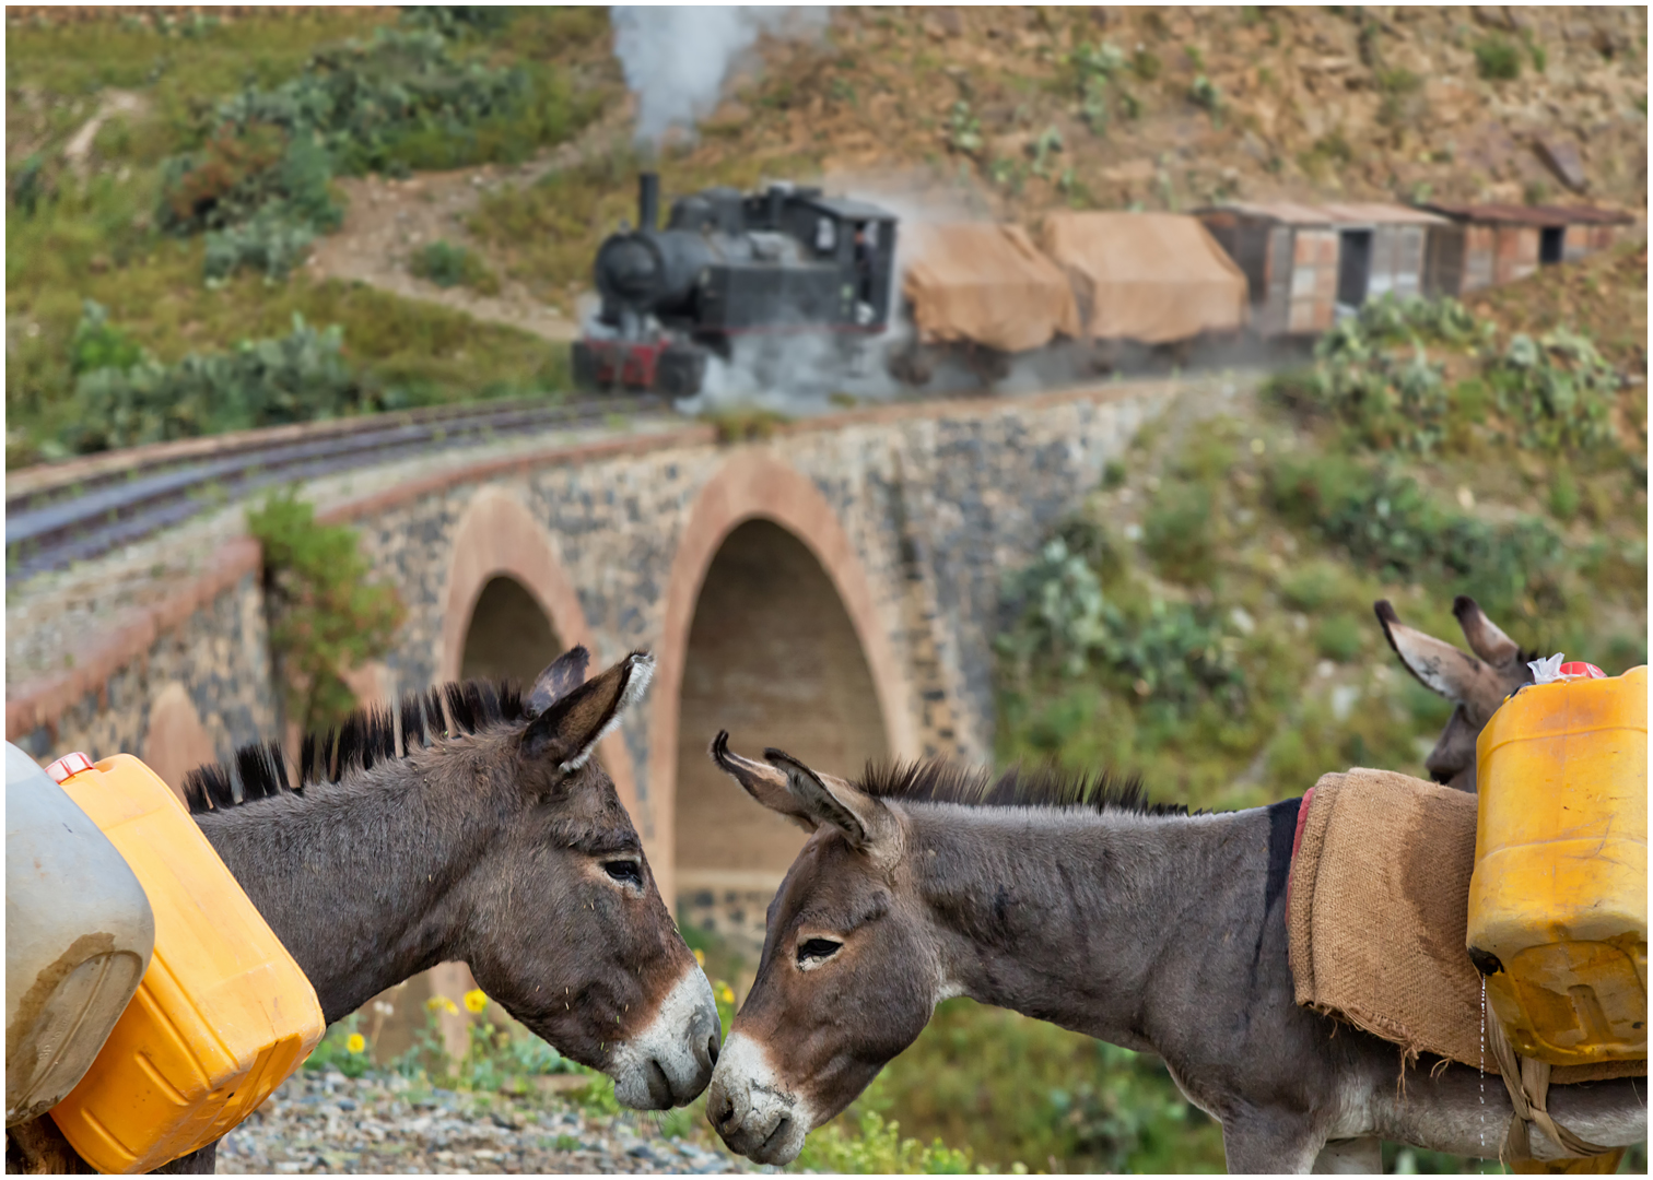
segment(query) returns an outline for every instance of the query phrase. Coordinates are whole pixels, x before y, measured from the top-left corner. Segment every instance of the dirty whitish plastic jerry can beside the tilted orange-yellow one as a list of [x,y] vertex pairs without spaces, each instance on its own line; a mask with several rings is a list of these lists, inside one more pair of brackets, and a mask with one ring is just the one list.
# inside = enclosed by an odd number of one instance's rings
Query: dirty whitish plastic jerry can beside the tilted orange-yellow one
[[144,887],[109,838],[5,744],[5,1125],[79,1084],[155,947]]

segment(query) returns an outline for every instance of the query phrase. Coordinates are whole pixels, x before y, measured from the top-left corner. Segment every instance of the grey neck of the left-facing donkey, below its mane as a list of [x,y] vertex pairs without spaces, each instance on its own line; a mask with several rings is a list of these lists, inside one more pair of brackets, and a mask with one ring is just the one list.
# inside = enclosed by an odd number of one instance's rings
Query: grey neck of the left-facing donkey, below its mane
[[[955,993],[1157,1049],[1154,998],[1190,940],[1222,937],[1240,811],[906,805],[919,887]],[[1286,851],[1289,854],[1289,835]]]

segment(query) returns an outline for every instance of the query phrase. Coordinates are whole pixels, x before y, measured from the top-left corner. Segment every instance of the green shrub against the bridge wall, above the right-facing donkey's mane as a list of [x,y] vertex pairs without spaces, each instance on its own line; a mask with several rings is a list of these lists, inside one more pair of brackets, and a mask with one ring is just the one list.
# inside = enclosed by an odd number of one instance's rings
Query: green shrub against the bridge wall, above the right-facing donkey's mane
[[316,522],[288,488],[246,514],[264,550],[269,649],[284,688],[286,717],[309,734],[355,709],[344,673],[383,656],[405,608],[393,587],[367,580],[354,529]]

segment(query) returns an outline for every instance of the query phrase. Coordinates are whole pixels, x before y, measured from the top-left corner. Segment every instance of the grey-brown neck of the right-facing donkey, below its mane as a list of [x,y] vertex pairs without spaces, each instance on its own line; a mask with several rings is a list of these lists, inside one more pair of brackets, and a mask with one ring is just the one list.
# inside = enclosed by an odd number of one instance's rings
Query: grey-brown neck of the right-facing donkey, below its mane
[[197,815],[302,968],[327,1023],[464,959],[464,883],[514,811],[488,737],[464,737]]

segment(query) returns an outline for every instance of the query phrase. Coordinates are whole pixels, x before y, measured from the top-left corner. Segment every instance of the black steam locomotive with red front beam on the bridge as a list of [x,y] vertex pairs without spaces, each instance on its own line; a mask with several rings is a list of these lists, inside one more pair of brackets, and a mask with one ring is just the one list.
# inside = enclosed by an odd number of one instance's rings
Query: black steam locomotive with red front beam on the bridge
[[772,183],[706,188],[671,203],[638,178],[638,226],[597,251],[602,311],[574,345],[580,388],[691,397],[707,359],[742,337],[826,334],[853,344],[889,324],[896,216],[876,205]]

